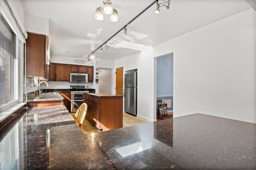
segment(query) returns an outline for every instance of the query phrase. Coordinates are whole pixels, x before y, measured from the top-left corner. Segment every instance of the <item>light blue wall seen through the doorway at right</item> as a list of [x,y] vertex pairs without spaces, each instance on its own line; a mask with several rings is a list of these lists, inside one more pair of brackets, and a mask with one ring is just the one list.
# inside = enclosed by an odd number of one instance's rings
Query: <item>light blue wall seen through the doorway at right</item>
[[156,96],[166,96],[157,97],[156,101],[171,99],[172,107],[168,107],[168,111],[173,110],[173,57],[158,57],[156,70]]

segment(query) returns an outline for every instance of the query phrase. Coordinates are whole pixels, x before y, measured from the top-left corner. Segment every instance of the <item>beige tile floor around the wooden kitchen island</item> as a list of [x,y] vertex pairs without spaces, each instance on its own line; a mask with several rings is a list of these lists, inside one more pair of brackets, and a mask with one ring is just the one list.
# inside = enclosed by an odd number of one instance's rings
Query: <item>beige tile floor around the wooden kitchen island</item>
[[[74,113],[70,113],[72,117],[74,117]],[[123,127],[129,127],[133,125],[139,125],[142,123],[148,123],[149,121],[146,121],[144,119],[140,119],[139,117],[130,115],[128,113],[123,113]],[[97,129],[92,123],[90,123],[87,119],[84,119],[82,131],[84,134],[90,134],[90,133],[97,133],[102,132],[101,130]]]

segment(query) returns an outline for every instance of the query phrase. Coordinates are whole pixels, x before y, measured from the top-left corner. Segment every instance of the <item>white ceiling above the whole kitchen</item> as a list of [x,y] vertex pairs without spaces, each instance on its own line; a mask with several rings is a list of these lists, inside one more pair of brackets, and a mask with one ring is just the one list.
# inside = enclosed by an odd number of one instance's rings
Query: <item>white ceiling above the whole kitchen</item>
[[[112,0],[119,21],[114,23],[104,14],[103,21],[94,19],[102,0],[22,0],[25,13],[50,19],[50,53],[54,56],[87,57],[114,33],[139,14],[154,0]],[[159,0],[161,3],[162,0]],[[138,50],[117,47],[128,41],[154,46],[194,29],[250,9],[245,0],[170,0],[170,9],[154,4],[127,27],[108,41],[110,49],[96,51],[96,58],[117,60]],[[62,53],[61,51],[70,51]]]

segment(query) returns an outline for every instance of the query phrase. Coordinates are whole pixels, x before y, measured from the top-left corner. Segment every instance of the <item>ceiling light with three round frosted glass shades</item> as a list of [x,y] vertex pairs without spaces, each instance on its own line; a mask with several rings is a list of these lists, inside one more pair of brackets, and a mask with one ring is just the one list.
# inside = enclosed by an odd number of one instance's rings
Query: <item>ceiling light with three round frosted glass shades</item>
[[98,21],[102,21],[104,19],[104,16],[103,16],[103,12],[104,12],[104,14],[111,15],[110,21],[117,22],[118,21],[118,12],[116,9],[112,8],[111,0],[103,0],[103,4],[105,4],[104,8],[98,7],[96,9],[95,19]]

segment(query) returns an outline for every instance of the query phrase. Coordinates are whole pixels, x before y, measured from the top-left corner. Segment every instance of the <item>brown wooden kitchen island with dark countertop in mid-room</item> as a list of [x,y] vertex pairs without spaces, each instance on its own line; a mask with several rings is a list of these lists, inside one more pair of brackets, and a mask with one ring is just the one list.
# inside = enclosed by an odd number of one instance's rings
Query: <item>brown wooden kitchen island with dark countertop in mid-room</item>
[[123,96],[109,93],[83,94],[88,105],[86,119],[102,131],[123,127]]

